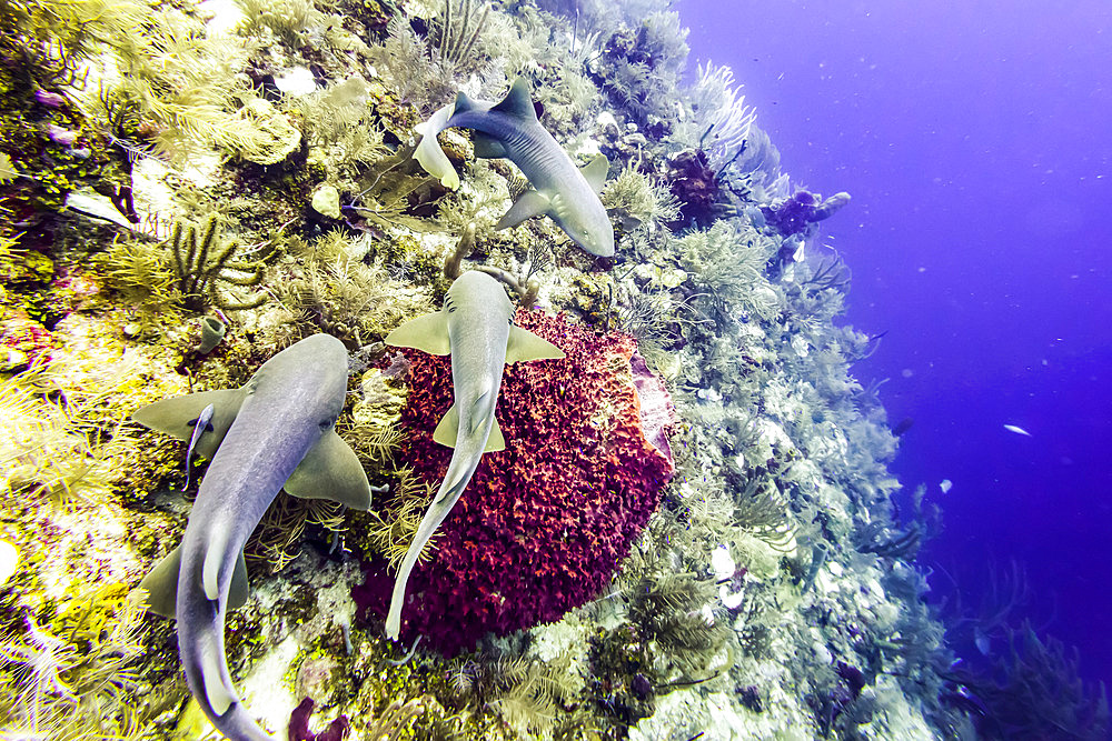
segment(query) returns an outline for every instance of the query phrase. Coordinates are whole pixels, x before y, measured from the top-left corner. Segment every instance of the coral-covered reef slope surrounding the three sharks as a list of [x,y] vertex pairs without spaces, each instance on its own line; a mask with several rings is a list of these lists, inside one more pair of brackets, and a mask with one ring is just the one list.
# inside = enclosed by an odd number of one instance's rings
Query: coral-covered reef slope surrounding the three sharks
[[[129,415],[316,332],[348,354],[337,433],[390,493],[281,494],[248,541],[225,652],[268,732],[1102,732],[1102,694],[1029,631],[986,623],[1007,654],[954,670],[913,561],[936,513],[896,507],[902,440],[852,373],[875,338],[837,321],[851,276],[818,239],[848,197],[793,183],[728,68],[682,83],[681,20],[665,0],[0,0],[0,734],[215,733],[133,589],[203,464]],[[572,161],[609,160],[613,256],[548,219],[496,230],[525,178],[469,132],[438,138],[455,191],[413,159],[458,92],[516,78]],[[507,369],[509,444],[426,549],[397,645],[380,618],[450,455],[430,433],[451,383],[383,340],[465,270],[568,357]]]

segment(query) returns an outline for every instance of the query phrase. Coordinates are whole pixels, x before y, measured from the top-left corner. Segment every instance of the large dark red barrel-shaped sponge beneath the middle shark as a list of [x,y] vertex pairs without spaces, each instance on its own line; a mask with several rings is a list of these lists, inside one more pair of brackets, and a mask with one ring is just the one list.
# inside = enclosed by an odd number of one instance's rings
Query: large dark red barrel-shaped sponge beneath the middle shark
[[[431,559],[409,580],[403,640],[424,635],[449,655],[488,631],[558,620],[596,597],[673,472],[664,434],[675,419],[671,399],[633,338],[539,311],[518,311],[516,322],[567,357],[506,367],[497,408],[506,450],[483,457]],[[451,455],[431,439],[451,404],[451,369],[446,357],[407,357],[396,460],[435,488]],[[391,587],[385,563],[373,562],[355,597],[368,615],[385,617]]]

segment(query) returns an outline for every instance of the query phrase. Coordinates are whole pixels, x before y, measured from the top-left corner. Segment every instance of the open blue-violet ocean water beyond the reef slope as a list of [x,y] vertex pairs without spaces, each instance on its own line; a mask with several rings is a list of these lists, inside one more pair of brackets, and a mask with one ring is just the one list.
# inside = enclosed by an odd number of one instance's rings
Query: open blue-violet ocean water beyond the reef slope
[[824,241],[853,269],[847,321],[885,333],[855,374],[914,421],[893,469],[943,509],[932,599],[975,612],[1014,562],[1009,620],[1112,681],[1112,3],[677,9],[793,184],[853,196]]

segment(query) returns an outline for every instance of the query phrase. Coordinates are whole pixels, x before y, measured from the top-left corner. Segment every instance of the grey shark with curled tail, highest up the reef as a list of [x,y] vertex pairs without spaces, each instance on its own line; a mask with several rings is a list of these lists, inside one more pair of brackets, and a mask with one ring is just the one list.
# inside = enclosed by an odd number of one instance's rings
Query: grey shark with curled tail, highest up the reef
[[525,173],[533,189],[515,201],[496,229],[516,227],[539,214],[552,218],[572,240],[592,254],[614,254],[614,228],[598,192],[609,163],[598,154],[579,169],[548,133],[533,108],[528,86],[518,79],[499,103],[456,96],[425,123],[414,157],[446,188],[459,187],[459,176],[436,141],[448,128],[474,129],[476,157],[505,157]]

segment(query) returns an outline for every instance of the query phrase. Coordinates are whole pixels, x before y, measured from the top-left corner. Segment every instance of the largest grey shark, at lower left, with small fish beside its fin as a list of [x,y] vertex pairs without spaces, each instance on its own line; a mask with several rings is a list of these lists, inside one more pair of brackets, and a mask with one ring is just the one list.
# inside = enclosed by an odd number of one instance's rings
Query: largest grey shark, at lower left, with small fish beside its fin
[[234,741],[271,741],[240,702],[224,650],[226,611],[247,599],[247,539],[282,487],[297,497],[370,504],[363,467],[332,430],[346,391],[347,351],[339,340],[315,334],[268,360],[239,389],[167,399],[132,415],[189,439],[203,423],[198,415],[212,408],[211,432],[192,440],[212,462],[186,533],[141,587],[153,612],[177,618],[189,689]]

